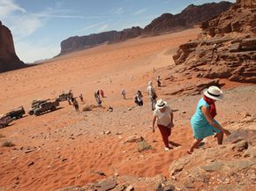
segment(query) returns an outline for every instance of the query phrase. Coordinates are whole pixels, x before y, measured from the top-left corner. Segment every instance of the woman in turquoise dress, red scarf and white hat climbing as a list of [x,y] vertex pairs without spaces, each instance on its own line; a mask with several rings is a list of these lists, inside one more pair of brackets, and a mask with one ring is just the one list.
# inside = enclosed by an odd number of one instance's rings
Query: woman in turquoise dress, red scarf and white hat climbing
[[204,97],[200,99],[195,114],[191,119],[194,141],[191,148],[187,151],[192,154],[195,148],[198,148],[200,142],[207,136],[213,136],[217,133],[218,144],[222,144],[223,134],[230,135],[230,131],[223,129],[218,121],[215,120],[217,114],[215,101],[222,99],[222,91],[217,86],[210,86],[204,91]]

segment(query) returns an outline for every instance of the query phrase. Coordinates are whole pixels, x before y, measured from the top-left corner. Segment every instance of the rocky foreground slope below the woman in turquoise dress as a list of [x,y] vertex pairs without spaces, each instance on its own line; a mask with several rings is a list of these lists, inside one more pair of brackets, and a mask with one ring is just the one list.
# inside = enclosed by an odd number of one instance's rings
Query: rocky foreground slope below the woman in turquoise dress
[[211,148],[204,148],[192,155],[178,158],[169,165],[169,179],[162,175],[155,177],[118,176],[89,183],[83,187],[64,187],[57,191],[251,191],[255,188],[256,116],[241,115],[236,121],[228,121],[231,136],[223,145],[216,145],[207,138]]

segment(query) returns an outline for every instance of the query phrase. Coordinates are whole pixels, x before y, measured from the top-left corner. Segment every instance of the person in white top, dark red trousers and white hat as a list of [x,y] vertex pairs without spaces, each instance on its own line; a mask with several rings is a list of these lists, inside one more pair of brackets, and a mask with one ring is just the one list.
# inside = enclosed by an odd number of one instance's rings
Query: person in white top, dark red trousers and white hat
[[166,101],[159,99],[155,104],[154,117],[153,117],[153,133],[154,133],[154,123],[157,120],[157,127],[162,135],[162,141],[164,143],[164,150],[169,151],[171,147],[169,146],[169,136],[171,134],[171,129],[174,127],[173,124],[173,113],[170,110]]

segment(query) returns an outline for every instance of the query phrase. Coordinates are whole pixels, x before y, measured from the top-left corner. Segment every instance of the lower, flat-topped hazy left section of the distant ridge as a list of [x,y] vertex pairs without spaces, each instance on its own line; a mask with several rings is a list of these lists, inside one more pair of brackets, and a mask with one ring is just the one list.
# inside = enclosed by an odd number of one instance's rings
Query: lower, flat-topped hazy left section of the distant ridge
[[113,43],[136,38],[141,34],[141,32],[142,29],[137,26],[124,29],[120,32],[109,31],[103,33],[94,33],[87,36],[70,37],[61,42],[60,55],[64,55],[66,53],[71,53],[85,48],[93,48],[95,46],[101,45],[102,43]]

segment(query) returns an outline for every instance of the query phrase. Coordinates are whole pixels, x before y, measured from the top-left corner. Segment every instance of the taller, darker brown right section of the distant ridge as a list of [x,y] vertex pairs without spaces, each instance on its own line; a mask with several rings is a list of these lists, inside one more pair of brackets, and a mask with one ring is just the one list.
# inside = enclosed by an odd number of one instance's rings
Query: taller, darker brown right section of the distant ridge
[[223,11],[227,11],[230,6],[230,2],[202,4],[199,6],[191,4],[177,15],[166,13],[159,18],[155,18],[143,29],[142,35],[159,35],[189,28],[201,24],[201,22],[209,18],[215,18]]

